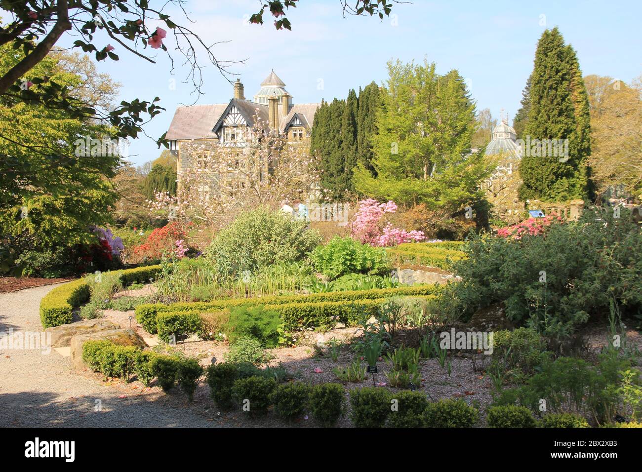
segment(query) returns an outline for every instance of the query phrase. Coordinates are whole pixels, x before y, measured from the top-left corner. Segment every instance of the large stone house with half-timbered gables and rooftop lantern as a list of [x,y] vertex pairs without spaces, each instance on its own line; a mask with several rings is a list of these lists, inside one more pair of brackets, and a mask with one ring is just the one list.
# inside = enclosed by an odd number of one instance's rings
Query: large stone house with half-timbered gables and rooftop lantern
[[[230,162],[242,162],[257,143],[258,120],[261,129],[287,136],[290,144],[304,145],[319,106],[293,103],[285,83],[272,70],[251,101],[245,98],[243,83],[237,79],[229,103],[178,107],[166,134],[169,149],[177,158],[178,188],[189,175],[206,172],[216,155],[235,155],[237,159]],[[256,171],[262,178],[269,171],[268,164]],[[227,174],[225,186],[230,187],[230,193],[235,186],[243,186],[244,182],[235,177],[233,164]],[[216,186],[220,189],[220,179]]]

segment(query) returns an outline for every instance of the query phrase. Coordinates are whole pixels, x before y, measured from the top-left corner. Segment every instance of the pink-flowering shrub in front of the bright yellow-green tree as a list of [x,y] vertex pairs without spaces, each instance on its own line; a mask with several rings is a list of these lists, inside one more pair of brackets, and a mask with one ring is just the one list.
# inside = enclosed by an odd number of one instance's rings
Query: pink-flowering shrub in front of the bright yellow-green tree
[[390,223],[384,225],[382,220],[385,214],[396,211],[397,204],[392,200],[386,203],[379,203],[373,198],[361,200],[359,210],[352,223],[352,237],[362,243],[379,247],[396,246],[426,239],[423,231],[406,231],[394,228]]

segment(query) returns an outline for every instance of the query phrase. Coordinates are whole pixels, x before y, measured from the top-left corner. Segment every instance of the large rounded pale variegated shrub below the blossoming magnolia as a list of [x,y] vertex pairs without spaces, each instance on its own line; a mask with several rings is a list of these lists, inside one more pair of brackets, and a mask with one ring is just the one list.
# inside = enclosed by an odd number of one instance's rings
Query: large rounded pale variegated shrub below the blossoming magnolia
[[205,256],[223,276],[295,263],[308,257],[320,240],[307,225],[282,211],[248,211],[216,235]]

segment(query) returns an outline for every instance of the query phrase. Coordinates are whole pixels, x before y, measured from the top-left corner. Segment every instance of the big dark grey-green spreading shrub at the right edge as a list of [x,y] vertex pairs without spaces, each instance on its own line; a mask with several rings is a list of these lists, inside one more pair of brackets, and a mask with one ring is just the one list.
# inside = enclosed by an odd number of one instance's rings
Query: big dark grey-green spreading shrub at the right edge
[[610,208],[591,207],[577,222],[553,223],[545,236],[472,236],[466,251],[455,270],[470,312],[503,302],[508,319],[559,342],[612,302],[622,315],[642,307],[642,232],[629,209],[614,218]]

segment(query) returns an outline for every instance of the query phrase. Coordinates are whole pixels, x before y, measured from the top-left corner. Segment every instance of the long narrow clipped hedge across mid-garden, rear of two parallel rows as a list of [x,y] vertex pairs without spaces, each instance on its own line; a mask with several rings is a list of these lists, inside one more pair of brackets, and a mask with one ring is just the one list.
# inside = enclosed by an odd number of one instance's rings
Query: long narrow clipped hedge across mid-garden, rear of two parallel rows
[[[421,297],[439,293],[438,285],[406,286],[399,288],[375,288],[372,290],[347,290],[345,292],[310,293],[309,295],[282,295],[257,298],[217,300],[213,302],[180,302],[169,305],[162,303],[144,303],[135,308],[136,320],[149,333],[156,333],[155,318],[164,311],[206,311],[225,310],[234,306],[269,305],[273,308],[284,304],[310,304],[322,302],[349,302],[380,300],[390,297]],[[276,310],[276,308],[275,308]],[[278,311],[278,310],[277,310]]]

